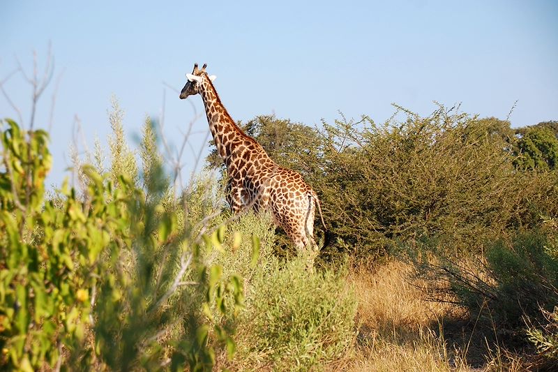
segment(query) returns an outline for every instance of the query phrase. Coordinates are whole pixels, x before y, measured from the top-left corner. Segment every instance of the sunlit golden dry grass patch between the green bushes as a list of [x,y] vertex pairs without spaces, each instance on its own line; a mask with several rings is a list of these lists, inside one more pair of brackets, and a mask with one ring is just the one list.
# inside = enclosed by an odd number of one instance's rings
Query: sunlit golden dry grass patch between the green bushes
[[[371,271],[355,269],[350,275],[359,297],[359,337],[354,355],[333,369],[345,371],[469,371],[462,352],[448,350],[438,336],[442,318],[462,315],[451,304],[425,302],[409,283],[412,267],[391,262]],[[341,368],[339,368],[341,367]]]

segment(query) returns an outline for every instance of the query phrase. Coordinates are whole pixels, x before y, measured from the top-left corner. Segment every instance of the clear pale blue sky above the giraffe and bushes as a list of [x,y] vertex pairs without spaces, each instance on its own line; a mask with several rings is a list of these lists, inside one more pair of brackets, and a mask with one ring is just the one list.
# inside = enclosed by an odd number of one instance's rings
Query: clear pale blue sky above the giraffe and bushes
[[[79,3],[0,3],[0,80],[17,59],[31,73],[33,50],[43,66],[52,43],[55,75],[36,126],[47,126],[61,74],[50,183],[70,165],[76,115],[89,147],[96,136],[106,142],[113,94],[131,138],[146,115],[160,116],[165,92],[165,135],[178,145],[193,111],[163,83],[181,89],[194,62],[217,75],[223,103],[242,121],[275,113],[313,126],[341,111],[381,123],[391,103],[426,115],[432,101],[502,119],[518,101],[513,126],[558,119],[557,1]],[[29,85],[13,76],[4,89],[29,121]],[[188,99],[203,111],[199,97]],[[2,95],[0,117],[17,118]],[[193,147],[207,147],[206,119],[194,129]]]

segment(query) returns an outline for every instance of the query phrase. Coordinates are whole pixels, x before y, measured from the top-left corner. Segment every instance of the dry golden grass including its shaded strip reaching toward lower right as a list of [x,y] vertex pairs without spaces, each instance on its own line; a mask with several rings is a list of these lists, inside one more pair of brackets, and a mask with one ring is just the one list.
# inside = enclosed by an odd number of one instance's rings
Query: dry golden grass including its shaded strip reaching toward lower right
[[[476,345],[482,341],[472,337],[472,329],[461,329],[463,334],[449,339],[444,335],[445,322],[460,323],[467,311],[455,304],[425,300],[425,288],[444,283],[414,277],[412,265],[398,261],[350,271],[348,281],[359,304],[359,334],[352,352],[330,364],[331,371],[531,370],[521,355]],[[471,354],[476,354],[474,362]]]

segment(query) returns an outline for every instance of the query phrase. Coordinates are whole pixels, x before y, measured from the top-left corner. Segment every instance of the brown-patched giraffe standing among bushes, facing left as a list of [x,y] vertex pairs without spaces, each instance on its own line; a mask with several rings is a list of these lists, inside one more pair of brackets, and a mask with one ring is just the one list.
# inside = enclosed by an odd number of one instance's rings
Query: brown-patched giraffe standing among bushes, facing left
[[180,98],[202,96],[209,130],[227,168],[226,198],[233,213],[250,207],[256,212],[269,210],[273,222],[285,230],[299,252],[315,250],[316,206],[326,226],[315,191],[301,174],[276,164],[256,140],[236,126],[213,87],[216,76],[208,75],[206,66],[199,69],[195,64],[192,73],[186,74],[188,81]]

